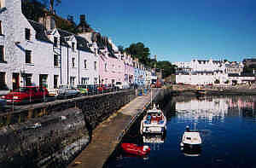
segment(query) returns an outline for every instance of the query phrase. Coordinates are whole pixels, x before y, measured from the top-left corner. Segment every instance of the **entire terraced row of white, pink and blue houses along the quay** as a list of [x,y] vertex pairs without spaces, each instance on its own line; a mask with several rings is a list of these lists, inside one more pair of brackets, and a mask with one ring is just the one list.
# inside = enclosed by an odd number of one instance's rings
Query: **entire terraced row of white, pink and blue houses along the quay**
[[150,68],[121,53],[98,32],[88,32],[85,15],[73,34],[51,15],[27,20],[20,0],[0,0],[0,90],[23,85],[150,84]]

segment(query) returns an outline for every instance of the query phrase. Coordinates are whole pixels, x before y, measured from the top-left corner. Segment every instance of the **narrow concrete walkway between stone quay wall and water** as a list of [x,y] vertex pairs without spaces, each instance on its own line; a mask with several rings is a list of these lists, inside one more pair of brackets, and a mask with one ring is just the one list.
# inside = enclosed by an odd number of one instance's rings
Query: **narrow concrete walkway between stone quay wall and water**
[[[154,91],[153,91],[154,92]],[[87,148],[68,165],[69,168],[102,168],[108,157],[119,144],[117,137],[129,125],[130,119],[142,112],[150,102],[150,95],[138,96],[136,99],[122,107],[106,121],[93,130],[92,140]]]

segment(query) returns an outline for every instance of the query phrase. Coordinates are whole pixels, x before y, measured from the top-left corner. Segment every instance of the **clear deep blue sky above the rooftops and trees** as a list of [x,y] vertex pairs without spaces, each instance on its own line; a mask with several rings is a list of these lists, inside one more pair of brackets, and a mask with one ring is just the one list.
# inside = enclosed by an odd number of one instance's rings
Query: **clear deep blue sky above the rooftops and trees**
[[62,0],[64,18],[87,22],[116,45],[142,42],[158,61],[256,57],[255,0]]

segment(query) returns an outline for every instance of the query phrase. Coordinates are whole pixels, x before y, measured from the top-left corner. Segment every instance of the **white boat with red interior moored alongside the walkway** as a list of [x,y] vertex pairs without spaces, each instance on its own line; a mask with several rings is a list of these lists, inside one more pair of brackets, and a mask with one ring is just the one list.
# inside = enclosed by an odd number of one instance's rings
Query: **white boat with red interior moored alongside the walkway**
[[152,109],[147,111],[147,114],[141,121],[140,133],[143,134],[161,134],[166,131],[166,116],[157,109],[154,105]]

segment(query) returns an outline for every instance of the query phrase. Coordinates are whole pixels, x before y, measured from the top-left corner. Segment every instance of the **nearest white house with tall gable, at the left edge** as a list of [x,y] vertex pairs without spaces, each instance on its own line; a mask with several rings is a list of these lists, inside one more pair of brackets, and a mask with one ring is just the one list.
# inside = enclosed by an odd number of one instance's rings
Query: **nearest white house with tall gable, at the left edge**
[[20,0],[1,0],[0,22],[0,90],[5,86],[16,89],[20,85],[52,81],[52,43],[44,26],[26,20]]

